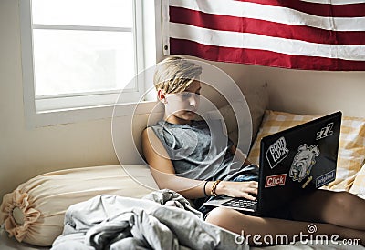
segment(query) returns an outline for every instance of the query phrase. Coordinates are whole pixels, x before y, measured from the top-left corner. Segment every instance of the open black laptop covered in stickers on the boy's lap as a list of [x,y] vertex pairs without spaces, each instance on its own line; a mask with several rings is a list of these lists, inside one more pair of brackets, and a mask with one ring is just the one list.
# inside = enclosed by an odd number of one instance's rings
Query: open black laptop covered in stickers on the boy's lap
[[256,200],[222,195],[204,205],[275,216],[293,199],[328,185],[336,178],[341,117],[339,111],[262,138]]

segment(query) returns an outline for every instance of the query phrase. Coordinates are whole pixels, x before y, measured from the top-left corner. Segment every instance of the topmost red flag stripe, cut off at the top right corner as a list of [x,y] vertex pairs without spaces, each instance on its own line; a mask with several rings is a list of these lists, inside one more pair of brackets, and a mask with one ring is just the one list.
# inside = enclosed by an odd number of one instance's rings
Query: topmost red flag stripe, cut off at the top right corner
[[239,2],[255,3],[260,5],[271,5],[286,7],[300,12],[308,13],[310,15],[318,16],[332,16],[332,17],[360,17],[365,16],[365,3],[345,4],[345,5],[331,5],[309,3],[304,1],[289,0],[235,0]]

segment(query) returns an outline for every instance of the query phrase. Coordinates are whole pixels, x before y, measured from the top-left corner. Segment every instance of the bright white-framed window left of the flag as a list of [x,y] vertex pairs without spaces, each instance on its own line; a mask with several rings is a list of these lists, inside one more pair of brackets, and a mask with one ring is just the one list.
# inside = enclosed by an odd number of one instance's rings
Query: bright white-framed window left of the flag
[[[155,40],[151,2],[20,0],[25,112],[31,125],[111,116],[117,99],[128,104],[145,96],[151,81],[134,76],[155,63],[153,46],[146,50],[144,43]],[[97,107],[109,108],[92,114]]]

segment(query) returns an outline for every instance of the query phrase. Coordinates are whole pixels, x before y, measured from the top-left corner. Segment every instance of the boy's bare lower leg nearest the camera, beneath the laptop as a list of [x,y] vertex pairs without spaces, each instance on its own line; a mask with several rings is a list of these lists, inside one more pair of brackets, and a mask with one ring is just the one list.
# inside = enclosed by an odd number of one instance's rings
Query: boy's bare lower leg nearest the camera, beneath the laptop
[[[359,230],[340,227],[337,225],[317,223],[316,230],[308,232],[308,222],[290,221],[276,218],[263,218],[252,215],[245,215],[234,209],[217,207],[212,210],[206,217],[206,222],[221,226],[238,235],[247,238],[250,245],[255,245],[259,241],[260,245],[270,245],[270,240],[274,239],[272,244],[288,244],[300,240],[309,240],[309,234],[328,235],[328,241],[332,235],[339,235],[342,239],[360,239],[361,244],[365,243],[365,235]],[[254,238],[254,235],[260,235],[260,239]],[[300,235],[305,235],[300,238]],[[264,241],[264,239],[268,241]],[[315,239],[315,237],[313,237]],[[276,242],[278,239],[278,242]],[[256,241],[255,241],[256,240]],[[287,240],[287,242],[280,242]],[[267,243],[268,242],[268,243]]]

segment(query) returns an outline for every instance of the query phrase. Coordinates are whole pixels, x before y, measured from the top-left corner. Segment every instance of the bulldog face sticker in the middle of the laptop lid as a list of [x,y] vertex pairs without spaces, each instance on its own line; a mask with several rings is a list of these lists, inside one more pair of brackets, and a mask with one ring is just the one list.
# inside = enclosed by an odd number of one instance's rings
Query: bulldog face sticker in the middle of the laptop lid
[[289,176],[293,181],[301,182],[306,178],[313,165],[316,164],[316,157],[319,156],[318,145],[301,145],[297,148],[297,155],[294,156],[293,163],[289,170]]

